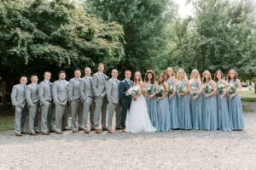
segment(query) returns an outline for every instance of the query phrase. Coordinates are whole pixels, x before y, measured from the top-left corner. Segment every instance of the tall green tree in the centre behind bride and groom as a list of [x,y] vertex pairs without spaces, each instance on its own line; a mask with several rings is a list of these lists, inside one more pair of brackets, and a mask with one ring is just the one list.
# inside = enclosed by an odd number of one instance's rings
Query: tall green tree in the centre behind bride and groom
[[155,56],[166,42],[162,31],[176,14],[171,0],[88,0],[85,6],[90,13],[124,27],[125,57],[120,70],[144,72],[158,65]]

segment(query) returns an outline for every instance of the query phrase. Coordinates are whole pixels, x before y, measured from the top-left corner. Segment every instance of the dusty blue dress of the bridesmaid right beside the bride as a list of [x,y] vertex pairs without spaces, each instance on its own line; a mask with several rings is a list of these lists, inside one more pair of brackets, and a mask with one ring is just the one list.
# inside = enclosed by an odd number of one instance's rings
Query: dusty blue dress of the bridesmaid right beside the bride
[[[145,87],[152,87],[152,91],[151,91],[151,95],[155,93],[155,86],[154,84],[149,84],[148,82],[145,82]],[[151,99],[147,99],[147,106],[148,106],[148,115],[150,117],[150,121],[152,122],[152,125],[156,128],[156,129],[160,129],[159,127],[159,121],[158,121],[158,112],[157,112],[157,101],[156,101],[157,97],[154,96]]]

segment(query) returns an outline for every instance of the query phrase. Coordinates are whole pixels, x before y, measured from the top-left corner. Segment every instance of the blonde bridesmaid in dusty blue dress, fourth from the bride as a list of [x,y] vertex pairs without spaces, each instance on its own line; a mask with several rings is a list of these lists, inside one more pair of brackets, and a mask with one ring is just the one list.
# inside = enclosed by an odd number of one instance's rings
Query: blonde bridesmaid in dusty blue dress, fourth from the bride
[[183,69],[177,71],[177,113],[179,128],[192,129],[190,104],[189,104],[190,85],[186,73]]

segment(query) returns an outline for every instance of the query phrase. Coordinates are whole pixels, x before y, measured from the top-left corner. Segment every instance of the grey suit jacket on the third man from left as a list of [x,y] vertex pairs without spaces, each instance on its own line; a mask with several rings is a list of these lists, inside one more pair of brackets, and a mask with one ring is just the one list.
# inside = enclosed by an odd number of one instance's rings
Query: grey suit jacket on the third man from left
[[51,82],[46,82],[45,80],[43,82],[39,83],[39,99],[40,104],[44,105],[46,101],[51,102],[52,101],[52,95],[51,95]]

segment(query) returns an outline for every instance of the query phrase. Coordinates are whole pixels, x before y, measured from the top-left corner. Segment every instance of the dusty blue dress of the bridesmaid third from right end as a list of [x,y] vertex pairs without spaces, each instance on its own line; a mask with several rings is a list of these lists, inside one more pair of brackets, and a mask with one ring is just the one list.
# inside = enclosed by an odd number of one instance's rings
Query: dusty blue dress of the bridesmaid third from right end
[[[211,86],[211,82],[207,82]],[[212,93],[213,89],[208,93]],[[217,97],[212,95],[206,98],[205,92],[203,97],[203,126],[205,130],[217,130],[218,129],[218,111],[217,111]]]

